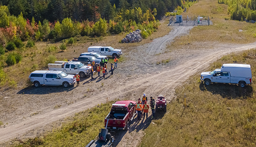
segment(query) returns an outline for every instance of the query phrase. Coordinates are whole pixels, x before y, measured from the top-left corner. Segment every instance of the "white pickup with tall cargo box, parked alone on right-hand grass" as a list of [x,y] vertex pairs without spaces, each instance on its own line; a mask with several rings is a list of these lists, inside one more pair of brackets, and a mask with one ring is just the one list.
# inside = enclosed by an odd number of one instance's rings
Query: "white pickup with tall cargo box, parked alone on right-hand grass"
[[200,80],[205,85],[216,83],[233,83],[245,87],[246,84],[252,84],[251,66],[246,64],[223,64],[220,69],[212,72],[202,72]]

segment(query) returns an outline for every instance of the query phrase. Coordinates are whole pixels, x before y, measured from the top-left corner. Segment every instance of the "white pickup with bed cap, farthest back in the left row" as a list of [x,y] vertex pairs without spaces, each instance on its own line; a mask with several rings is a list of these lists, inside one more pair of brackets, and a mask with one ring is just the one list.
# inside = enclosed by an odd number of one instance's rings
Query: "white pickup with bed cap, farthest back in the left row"
[[114,49],[111,46],[91,46],[88,48],[88,52],[99,53],[109,57],[119,57],[122,54],[122,50]]

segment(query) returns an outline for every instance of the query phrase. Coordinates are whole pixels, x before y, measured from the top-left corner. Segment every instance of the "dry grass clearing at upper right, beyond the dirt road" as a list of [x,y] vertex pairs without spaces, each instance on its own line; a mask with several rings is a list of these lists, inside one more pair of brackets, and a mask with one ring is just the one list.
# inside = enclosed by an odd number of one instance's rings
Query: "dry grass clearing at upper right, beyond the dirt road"
[[203,20],[208,19],[209,16],[210,20],[213,21],[213,25],[194,27],[189,35],[176,39],[171,48],[180,48],[181,45],[195,41],[218,41],[220,43],[255,42],[256,25],[230,20],[227,9],[227,5],[218,4],[217,0],[200,0],[198,3],[193,4],[188,8],[187,13],[182,13],[182,15],[185,17],[188,15],[191,18],[200,15]]

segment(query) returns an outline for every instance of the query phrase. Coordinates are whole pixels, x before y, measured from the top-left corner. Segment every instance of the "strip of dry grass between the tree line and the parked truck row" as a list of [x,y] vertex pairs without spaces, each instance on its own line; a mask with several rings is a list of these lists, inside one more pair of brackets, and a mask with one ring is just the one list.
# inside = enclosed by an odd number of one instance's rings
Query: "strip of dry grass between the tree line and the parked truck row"
[[[153,39],[162,37],[168,34],[171,27],[167,27],[168,19],[163,19],[157,32],[154,32],[148,39],[142,40],[139,43],[118,43],[119,40],[125,37],[127,33],[121,33],[119,35],[90,38],[87,36],[75,36],[74,44],[67,45],[66,51],[59,50],[59,46],[62,42],[36,42],[32,48],[23,47],[21,49],[15,49],[14,52],[22,54],[22,60],[13,66],[8,67],[5,64],[6,58],[9,53],[0,55],[0,67],[3,66],[3,72],[0,70],[0,87],[15,88],[15,87],[27,87],[31,83],[28,82],[29,74],[34,70],[47,69],[47,63],[54,62],[55,60],[68,60],[74,57],[78,57],[81,53],[87,52],[89,46],[112,46],[117,49],[122,49],[124,55],[133,50],[136,46],[151,42]],[[27,44],[24,42],[25,45]],[[121,58],[120,62],[125,58]],[[113,62],[114,63],[114,62]],[[110,66],[110,65],[109,65]],[[48,69],[47,69],[48,70]],[[2,78],[4,77],[4,78]]]

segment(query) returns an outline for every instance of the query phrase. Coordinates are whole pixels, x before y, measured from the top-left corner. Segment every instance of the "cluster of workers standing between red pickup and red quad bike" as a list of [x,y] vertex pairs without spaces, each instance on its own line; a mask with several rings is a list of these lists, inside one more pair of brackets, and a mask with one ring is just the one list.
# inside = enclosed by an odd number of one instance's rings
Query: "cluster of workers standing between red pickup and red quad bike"
[[[155,118],[155,99],[151,96],[150,97],[150,107],[152,110],[152,118]],[[147,96],[146,94],[143,94],[142,97],[142,101],[141,98],[139,98],[138,103],[136,105],[136,110],[137,110],[137,114],[138,114],[138,120],[142,119],[142,111],[143,111],[143,119],[145,118],[145,114],[146,114],[146,119],[148,117],[148,109],[149,109],[149,105],[147,104]]]

